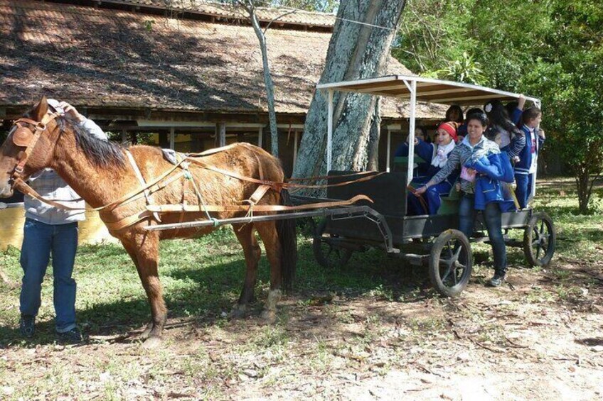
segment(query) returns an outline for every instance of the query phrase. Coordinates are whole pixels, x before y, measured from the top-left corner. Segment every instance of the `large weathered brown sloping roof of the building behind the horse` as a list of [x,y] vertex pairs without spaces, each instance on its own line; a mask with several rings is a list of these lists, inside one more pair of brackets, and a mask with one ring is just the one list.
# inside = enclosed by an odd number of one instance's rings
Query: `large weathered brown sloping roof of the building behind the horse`
[[[250,26],[31,0],[0,0],[0,18],[0,106],[28,106],[46,94],[96,108],[267,110]],[[306,113],[330,37],[267,32],[278,113]],[[388,70],[410,74],[393,58]],[[407,114],[385,101],[383,116]],[[420,108],[419,116],[433,112]]]

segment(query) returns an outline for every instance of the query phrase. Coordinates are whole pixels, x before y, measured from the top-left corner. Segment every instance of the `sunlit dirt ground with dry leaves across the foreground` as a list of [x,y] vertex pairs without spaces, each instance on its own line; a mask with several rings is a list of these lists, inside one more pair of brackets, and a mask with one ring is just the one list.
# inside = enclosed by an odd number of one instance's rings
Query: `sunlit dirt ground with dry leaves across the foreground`
[[478,270],[456,300],[325,293],[288,298],[273,325],[171,320],[154,351],[116,335],[9,347],[0,398],[602,399],[603,264],[554,265],[500,289]]

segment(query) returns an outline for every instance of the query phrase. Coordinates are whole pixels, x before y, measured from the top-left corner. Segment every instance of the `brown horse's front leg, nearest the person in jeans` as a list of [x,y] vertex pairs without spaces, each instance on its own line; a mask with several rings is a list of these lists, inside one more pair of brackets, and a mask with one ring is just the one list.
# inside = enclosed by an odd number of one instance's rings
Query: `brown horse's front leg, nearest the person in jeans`
[[124,247],[132,256],[137,267],[138,275],[146,297],[151,306],[151,323],[140,335],[140,339],[146,340],[144,346],[152,347],[161,342],[161,334],[167,320],[167,308],[164,302],[163,290],[159,281],[157,266],[159,264],[159,236],[155,233],[141,234],[135,241]]

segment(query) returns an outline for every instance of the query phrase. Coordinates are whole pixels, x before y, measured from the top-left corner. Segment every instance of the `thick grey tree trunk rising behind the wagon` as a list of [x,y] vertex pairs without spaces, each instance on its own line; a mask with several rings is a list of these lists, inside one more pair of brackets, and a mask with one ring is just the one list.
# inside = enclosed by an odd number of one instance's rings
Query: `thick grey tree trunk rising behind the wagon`
[[[405,0],[343,0],[333,29],[320,83],[384,75],[392,40]],[[353,23],[351,21],[361,21]],[[378,28],[380,26],[383,28]],[[384,29],[385,28],[385,29]],[[378,141],[378,99],[365,94],[335,92],[333,96],[334,170],[363,170],[370,141]],[[375,118],[376,116],[376,118]],[[327,94],[314,94],[294,177],[326,173]],[[375,144],[377,146],[377,144]]]

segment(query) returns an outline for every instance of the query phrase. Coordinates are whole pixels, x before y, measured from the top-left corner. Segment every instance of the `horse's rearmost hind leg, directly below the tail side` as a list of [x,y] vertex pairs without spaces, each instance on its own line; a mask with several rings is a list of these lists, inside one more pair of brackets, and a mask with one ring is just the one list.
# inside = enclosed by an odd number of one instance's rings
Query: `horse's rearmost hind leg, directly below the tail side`
[[262,223],[254,223],[257,229],[257,234],[260,234],[264,248],[266,248],[266,256],[270,263],[270,291],[266,306],[262,312],[262,317],[269,321],[274,321],[277,316],[277,303],[281,298],[281,247],[277,234],[275,221],[266,221]]

